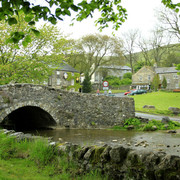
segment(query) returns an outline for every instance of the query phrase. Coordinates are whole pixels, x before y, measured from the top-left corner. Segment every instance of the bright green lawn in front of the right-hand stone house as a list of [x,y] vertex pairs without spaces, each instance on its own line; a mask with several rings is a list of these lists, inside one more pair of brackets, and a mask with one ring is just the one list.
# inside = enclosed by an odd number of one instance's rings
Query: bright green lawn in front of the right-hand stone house
[[[169,107],[180,108],[180,93],[158,91],[131,97],[134,98],[136,111],[170,114]],[[155,110],[145,109],[144,105],[153,105]]]

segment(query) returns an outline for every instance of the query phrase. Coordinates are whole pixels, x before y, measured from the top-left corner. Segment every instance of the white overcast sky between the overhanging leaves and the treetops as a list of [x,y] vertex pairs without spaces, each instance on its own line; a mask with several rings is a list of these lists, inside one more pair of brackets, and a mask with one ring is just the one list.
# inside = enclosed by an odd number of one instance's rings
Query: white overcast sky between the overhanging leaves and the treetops
[[[148,38],[150,31],[157,24],[155,9],[163,6],[161,0],[122,0],[122,6],[127,9],[128,19],[118,31],[114,32],[115,35],[120,37],[132,29],[139,29],[142,36]],[[65,35],[78,39],[87,34],[100,33],[95,27],[94,20],[88,18],[82,22],[75,22],[74,26],[69,26],[71,24],[70,18],[65,18],[64,22],[58,22],[58,27]],[[101,33],[111,36],[112,32],[112,28],[109,27]]]

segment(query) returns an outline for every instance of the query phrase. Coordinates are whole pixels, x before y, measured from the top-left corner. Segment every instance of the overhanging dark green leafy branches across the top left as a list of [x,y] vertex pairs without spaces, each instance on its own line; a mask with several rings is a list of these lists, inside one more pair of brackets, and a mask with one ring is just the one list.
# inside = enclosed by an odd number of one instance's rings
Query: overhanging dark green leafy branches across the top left
[[[2,5],[0,7],[0,20],[6,20],[9,25],[18,23],[15,15],[18,16],[21,12],[25,14],[24,20],[29,25],[35,25],[40,19],[56,24],[57,20],[62,21],[64,16],[71,16],[72,12],[75,14],[75,17],[72,17],[72,19],[82,21],[92,17],[94,11],[98,10],[100,17],[96,20],[96,24],[100,26],[99,29],[102,30],[112,23],[113,29],[117,30],[127,17],[126,9],[120,5],[121,0],[92,0],[89,2],[82,0],[79,3],[75,3],[72,0],[44,0],[40,1],[39,4],[37,4],[38,1],[32,0],[1,0],[0,2]],[[39,34],[39,31],[32,27],[27,33],[23,31],[12,32],[9,40],[14,43],[23,40],[26,44],[28,43],[26,36],[29,36],[30,32]]]

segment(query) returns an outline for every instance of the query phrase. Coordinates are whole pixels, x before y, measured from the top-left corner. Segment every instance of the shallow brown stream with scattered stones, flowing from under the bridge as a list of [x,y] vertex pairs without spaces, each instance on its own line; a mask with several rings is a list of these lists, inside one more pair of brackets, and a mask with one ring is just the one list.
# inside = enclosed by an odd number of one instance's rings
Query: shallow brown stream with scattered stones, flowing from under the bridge
[[54,141],[80,145],[123,145],[136,150],[166,152],[180,156],[180,134],[167,132],[140,132],[127,130],[56,129],[30,132],[52,137]]

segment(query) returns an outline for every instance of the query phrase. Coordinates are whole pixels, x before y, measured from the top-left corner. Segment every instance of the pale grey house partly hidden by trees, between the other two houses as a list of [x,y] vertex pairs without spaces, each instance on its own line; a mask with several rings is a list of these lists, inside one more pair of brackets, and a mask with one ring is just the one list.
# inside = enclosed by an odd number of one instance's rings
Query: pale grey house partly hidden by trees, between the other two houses
[[101,84],[105,76],[116,76],[122,79],[123,75],[127,72],[131,72],[131,68],[128,66],[99,66],[92,75],[91,82],[93,84]]

